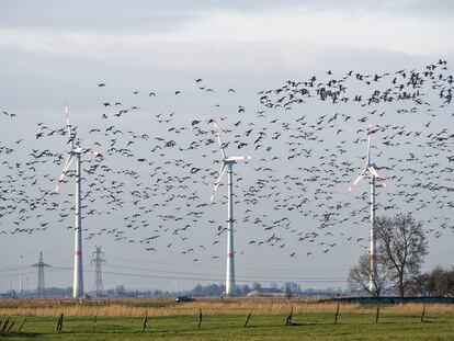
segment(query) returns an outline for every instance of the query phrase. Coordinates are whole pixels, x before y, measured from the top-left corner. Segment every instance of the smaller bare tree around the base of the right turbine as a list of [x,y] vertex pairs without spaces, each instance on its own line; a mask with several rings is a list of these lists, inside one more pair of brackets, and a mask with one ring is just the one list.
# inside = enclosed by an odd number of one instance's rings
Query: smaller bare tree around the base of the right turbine
[[376,272],[373,276],[373,289],[368,289],[368,281],[371,277],[371,262],[368,260],[368,254],[363,254],[357,260],[357,264],[350,269],[349,277],[347,280],[348,285],[352,289],[363,289],[368,292],[375,297],[379,297],[383,291],[389,284],[386,269],[379,257],[375,260]]

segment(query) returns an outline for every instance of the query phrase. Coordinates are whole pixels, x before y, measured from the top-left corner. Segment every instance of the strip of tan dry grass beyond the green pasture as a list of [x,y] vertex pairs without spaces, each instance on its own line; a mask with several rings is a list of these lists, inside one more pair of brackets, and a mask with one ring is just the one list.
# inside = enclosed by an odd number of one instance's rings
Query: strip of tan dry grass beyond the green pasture
[[[174,299],[109,299],[109,300],[77,300],[65,299],[24,299],[0,300],[1,316],[105,316],[105,317],[141,317],[145,311],[151,317],[164,316],[195,316],[202,309],[209,316],[247,315],[287,315],[293,307],[294,314],[332,312],[337,303],[319,303],[316,300],[283,298],[230,298],[197,299],[191,303],[175,303]],[[382,305],[384,314],[415,314],[420,315],[422,304]],[[454,304],[429,304],[428,314],[447,314],[454,316]],[[375,305],[360,305],[342,303],[341,314],[375,314]]]

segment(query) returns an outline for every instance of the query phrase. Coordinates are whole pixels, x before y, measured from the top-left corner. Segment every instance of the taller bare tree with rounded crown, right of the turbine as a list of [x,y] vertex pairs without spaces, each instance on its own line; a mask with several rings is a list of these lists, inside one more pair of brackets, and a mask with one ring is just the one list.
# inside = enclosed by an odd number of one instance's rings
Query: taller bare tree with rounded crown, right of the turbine
[[377,250],[396,283],[401,297],[405,296],[406,281],[419,274],[428,254],[422,224],[410,215],[396,215],[393,218],[377,217],[375,220]]

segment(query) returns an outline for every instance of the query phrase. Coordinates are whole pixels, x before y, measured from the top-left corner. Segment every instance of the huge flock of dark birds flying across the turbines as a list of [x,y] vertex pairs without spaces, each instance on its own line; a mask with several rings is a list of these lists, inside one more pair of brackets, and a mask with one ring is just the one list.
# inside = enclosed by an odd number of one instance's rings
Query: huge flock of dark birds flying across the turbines
[[[101,152],[82,163],[86,239],[170,249],[194,262],[222,257],[226,186],[208,203],[219,167],[214,120],[226,150],[253,156],[235,173],[237,252],[275,248],[298,259],[341,245],[366,250],[368,189],[347,189],[364,166],[370,123],[372,158],[388,185],[377,191],[377,215],[413,214],[431,238],[454,231],[454,86],[445,60],[383,73],[329,70],[258,91],[254,105],[202,78],[193,87],[171,92],[172,102],[197,96],[207,114],[154,110],[159,89],[132,90],[126,104],[110,98],[107,81],[93,84],[95,118],[82,124],[71,113],[73,138]],[[21,116],[12,112],[3,111],[2,129]],[[73,171],[52,195],[66,158],[64,120],[0,141],[0,235],[73,227]]]

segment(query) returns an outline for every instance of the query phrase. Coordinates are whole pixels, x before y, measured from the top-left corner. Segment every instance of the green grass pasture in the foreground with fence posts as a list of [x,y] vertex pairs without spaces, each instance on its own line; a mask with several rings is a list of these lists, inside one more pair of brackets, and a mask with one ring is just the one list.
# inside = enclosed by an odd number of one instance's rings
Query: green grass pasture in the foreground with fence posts
[[[4,317],[3,317],[4,320]],[[298,314],[294,326],[285,326],[285,315],[252,316],[243,328],[246,316],[204,316],[201,329],[198,316],[149,317],[146,332],[144,318],[67,317],[57,333],[57,318],[29,317],[21,333],[23,318],[0,340],[454,340],[454,316],[382,314],[375,323],[374,314],[344,314],[333,323],[333,314]]]

